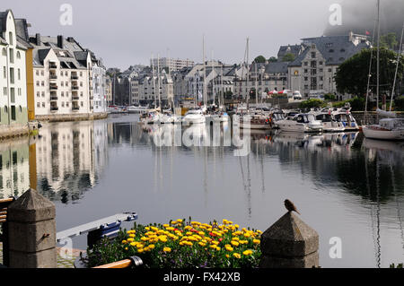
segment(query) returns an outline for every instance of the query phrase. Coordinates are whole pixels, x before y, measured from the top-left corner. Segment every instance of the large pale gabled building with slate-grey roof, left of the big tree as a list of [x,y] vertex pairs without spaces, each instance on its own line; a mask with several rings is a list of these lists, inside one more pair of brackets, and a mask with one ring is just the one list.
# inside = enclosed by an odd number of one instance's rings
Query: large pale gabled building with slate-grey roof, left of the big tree
[[304,50],[288,65],[288,89],[301,91],[303,97],[334,93],[339,100],[349,95],[339,94],[334,80],[338,66],[364,48],[371,48],[366,36],[350,32],[347,36],[303,39]]

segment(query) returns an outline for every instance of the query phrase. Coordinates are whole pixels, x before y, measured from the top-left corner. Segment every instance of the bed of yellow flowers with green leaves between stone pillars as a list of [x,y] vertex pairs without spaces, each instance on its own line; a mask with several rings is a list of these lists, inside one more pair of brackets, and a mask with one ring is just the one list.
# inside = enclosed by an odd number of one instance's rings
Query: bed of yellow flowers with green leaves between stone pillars
[[135,224],[118,238],[101,242],[87,251],[93,267],[129,256],[139,256],[149,268],[258,267],[261,231],[241,229],[233,221],[206,224],[170,221],[168,224]]

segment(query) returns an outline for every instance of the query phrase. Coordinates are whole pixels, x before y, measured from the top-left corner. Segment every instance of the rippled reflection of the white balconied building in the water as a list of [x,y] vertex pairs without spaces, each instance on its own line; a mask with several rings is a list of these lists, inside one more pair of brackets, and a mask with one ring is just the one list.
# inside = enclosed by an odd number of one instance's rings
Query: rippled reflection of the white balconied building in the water
[[36,143],[37,179],[42,195],[68,204],[91,189],[107,164],[105,122],[66,122],[40,129]]

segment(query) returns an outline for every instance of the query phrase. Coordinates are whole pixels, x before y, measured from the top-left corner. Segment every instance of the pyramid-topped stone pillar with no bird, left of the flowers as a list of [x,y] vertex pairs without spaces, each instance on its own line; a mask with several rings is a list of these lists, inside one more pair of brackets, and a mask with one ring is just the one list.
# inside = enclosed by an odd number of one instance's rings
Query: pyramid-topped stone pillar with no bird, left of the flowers
[[29,189],[8,207],[10,268],[56,268],[56,209]]

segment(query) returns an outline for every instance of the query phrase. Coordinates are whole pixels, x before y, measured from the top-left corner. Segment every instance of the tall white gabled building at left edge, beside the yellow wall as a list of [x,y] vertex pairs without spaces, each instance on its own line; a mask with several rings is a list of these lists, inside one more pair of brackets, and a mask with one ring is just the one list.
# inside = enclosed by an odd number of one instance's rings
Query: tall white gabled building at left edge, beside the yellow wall
[[[0,12],[0,126],[22,127],[28,122],[26,53],[30,47],[22,33],[25,20],[13,12]],[[28,74],[30,71],[28,71]]]

